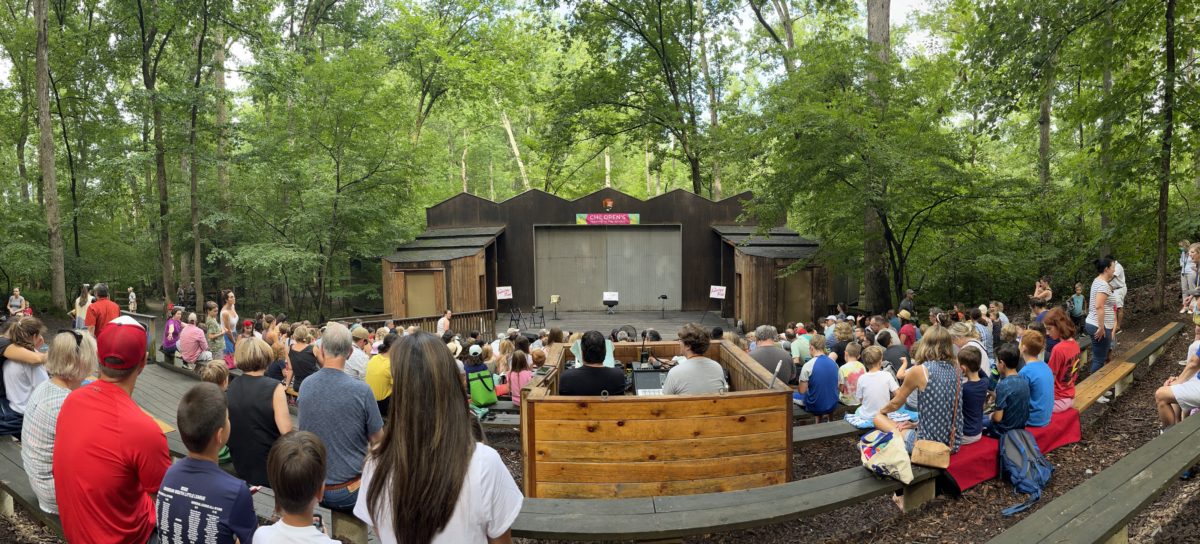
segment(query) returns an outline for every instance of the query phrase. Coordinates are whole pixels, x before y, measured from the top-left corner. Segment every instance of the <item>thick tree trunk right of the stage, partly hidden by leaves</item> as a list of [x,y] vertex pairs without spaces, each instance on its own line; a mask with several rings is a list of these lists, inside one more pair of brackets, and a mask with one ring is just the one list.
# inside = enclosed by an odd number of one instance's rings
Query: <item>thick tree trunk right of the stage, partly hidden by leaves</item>
[[[866,38],[875,48],[881,70],[892,58],[892,0],[866,1]],[[870,73],[872,80],[880,80],[877,73]],[[880,115],[884,114],[887,103],[882,96],[876,97]],[[877,169],[876,166],[872,169]],[[888,286],[887,246],[883,239],[883,213],[881,205],[887,202],[887,180],[882,171],[871,172],[868,187],[866,205],[863,210],[863,287],[865,299],[862,306],[868,311],[882,312],[892,304]]]

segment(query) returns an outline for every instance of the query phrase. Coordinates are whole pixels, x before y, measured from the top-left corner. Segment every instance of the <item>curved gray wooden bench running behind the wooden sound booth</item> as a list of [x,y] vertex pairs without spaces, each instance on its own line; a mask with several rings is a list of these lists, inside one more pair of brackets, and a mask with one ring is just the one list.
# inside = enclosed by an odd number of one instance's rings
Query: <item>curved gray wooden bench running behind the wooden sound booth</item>
[[900,490],[905,495],[905,510],[912,512],[934,498],[937,473],[913,467],[913,483],[908,486],[854,467],[786,484],[718,494],[527,498],[512,525],[512,536],[564,540],[674,539],[811,518]]

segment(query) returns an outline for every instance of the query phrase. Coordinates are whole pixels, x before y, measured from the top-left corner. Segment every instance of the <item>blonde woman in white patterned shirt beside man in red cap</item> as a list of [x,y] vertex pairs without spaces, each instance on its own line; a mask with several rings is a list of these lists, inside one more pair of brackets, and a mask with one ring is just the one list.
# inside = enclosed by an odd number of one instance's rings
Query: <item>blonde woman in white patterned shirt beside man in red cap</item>
[[37,506],[58,514],[54,500],[55,426],[67,394],[79,389],[83,381],[96,371],[96,339],[84,331],[59,333],[50,342],[46,357],[46,372],[50,379],[42,382],[29,396],[25,423],[20,430],[20,460],[29,474],[29,484],[37,496]]

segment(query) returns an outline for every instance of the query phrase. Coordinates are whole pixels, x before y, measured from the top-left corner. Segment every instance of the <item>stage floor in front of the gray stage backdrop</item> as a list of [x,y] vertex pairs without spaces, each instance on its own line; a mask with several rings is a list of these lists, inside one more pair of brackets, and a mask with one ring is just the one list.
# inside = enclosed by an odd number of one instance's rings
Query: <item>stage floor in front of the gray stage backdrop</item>
[[[616,313],[607,312],[558,312],[558,319],[554,319],[554,312],[546,312],[546,329],[552,327],[558,327],[564,331],[587,331],[587,330],[599,330],[608,335],[612,329],[619,328],[622,325],[631,325],[637,329],[638,334],[643,329],[650,328],[658,330],[662,335],[662,340],[674,340],[676,333],[679,327],[686,323],[700,323],[706,329],[712,329],[713,327],[724,327],[730,329],[732,327],[731,319],[724,319],[715,311],[708,313],[700,311],[680,312],[680,311],[668,311],[666,313],[661,311],[628,311],[623,312],[617,306]],[[496,313],[496,333],[504,334],[509,328],[509,312],[500,311]],[[541,327],[528,327],[522,323],[521,330],[528,330],[536,333]]]

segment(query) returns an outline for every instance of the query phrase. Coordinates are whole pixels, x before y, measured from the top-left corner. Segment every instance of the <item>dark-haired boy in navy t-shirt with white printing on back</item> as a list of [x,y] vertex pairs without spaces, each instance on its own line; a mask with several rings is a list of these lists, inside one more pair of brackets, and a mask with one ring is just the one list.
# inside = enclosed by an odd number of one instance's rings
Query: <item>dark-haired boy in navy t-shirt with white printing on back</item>
[[[246,343],[250,340],[239,342],[236,351]],[[179,401],[176,425],[187,456],[167,470],[158,488],[155,513],[161,543],[248,543],[258,528],[246,483],[217,465],[217,452],[229,438],[224,397],[221,388],[199,383]]]

